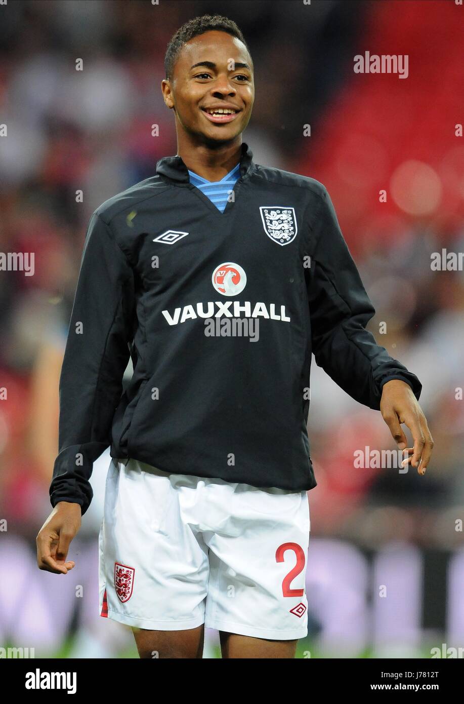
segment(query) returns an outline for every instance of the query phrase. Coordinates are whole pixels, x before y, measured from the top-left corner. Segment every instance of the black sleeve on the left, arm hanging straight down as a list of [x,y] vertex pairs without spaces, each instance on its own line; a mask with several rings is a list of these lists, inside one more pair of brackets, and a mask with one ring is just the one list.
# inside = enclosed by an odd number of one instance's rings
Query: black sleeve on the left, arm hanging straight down
[[58,457],[51,505],[89,508],[92,466],[111,444],[134,329],[134,272],[94,212],[89,220],[60,374]]

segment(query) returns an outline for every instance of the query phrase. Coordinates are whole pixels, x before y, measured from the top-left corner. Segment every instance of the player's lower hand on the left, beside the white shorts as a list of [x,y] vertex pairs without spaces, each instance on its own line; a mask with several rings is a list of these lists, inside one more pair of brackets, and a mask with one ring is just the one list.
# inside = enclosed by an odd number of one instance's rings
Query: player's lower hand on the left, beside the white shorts
[[37,534],[37,565],[39,570],[67,574],[75,566],[66,560],[70,542],[81,527],[79,503],[59,501]]

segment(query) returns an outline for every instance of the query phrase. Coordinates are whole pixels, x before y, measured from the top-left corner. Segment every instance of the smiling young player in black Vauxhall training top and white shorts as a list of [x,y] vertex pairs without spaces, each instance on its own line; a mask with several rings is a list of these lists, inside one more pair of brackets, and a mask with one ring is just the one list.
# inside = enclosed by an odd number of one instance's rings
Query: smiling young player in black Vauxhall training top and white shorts
[[[316,486],[311,352],[400,448],[411,429],[423,473],[421,384],[365,329],[375,310],[326,188],[255,164],[241,141],[254,84],[236,24],[191,20],[165,64],[178,153],[89,222],[39,567],[74,567],[92,463],[110,445],[101,615],[133,627],[143,658],[201,657],[205,624],[224,658],[293,658]],[[253,340],[228,327],[258,320]]]

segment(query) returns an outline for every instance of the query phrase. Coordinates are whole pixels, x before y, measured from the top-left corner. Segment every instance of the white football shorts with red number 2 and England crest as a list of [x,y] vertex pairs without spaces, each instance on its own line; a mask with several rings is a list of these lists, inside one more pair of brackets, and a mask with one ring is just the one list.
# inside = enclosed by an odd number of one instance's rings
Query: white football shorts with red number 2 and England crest
[[[124,460],[127,461],[127,460]],[[307,491],[112,460],[99,536],[100,614],[160,631],[307,635]]]

